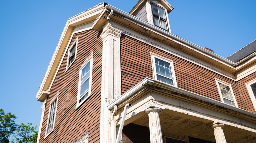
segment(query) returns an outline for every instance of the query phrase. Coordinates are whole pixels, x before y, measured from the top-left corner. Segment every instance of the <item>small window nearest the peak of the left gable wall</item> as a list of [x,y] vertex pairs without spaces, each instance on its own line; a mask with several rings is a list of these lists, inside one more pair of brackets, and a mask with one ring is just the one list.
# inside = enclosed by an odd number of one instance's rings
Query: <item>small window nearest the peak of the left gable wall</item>
[[68,59],[67,59],[67,68],[66,69],[68,69],[75,61],[76,51],[77,51],[77,43],[78,43],[78,37],[76,38],[76,40],[73,42],[73,44],[70,46],[70,48],[68,50]]

